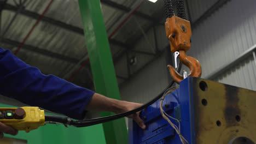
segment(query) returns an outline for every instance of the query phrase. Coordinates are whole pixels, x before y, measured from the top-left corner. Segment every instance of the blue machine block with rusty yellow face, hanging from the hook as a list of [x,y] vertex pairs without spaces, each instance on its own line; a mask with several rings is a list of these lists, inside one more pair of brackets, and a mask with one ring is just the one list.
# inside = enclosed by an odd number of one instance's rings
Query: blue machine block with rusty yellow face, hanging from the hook
[[[162,107],[179,120],[181,134],[189,143],[256,142],[253,135],[256,133],[255,104],[250,101],[256,101],[256,92],[188,77],[165,97]],[[160,100],[143,110],[141,118],[147,129],[142,130],[129,121],[129,144],[182,143],[176,131],[162,118]],[[172,122],[178,126],[177,122]]]

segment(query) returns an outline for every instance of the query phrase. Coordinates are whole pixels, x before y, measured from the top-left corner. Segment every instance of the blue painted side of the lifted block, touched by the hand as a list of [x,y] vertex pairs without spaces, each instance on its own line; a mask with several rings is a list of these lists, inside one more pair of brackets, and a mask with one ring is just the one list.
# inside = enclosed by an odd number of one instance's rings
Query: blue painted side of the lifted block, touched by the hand
[[[195,143],[191,81],[191,77],[183,80],[178,89],[165,97],[162,106],[168,115],[180,120],[181,134],[185,139],[189,143]],[[129,121],[129,144],[181,143],[178,134],[161,116],[160,100],[143,110],[141,118],[147,125],[147,129],[142,130],[135,122]],[[175,121],[172,122],[175,123]]]

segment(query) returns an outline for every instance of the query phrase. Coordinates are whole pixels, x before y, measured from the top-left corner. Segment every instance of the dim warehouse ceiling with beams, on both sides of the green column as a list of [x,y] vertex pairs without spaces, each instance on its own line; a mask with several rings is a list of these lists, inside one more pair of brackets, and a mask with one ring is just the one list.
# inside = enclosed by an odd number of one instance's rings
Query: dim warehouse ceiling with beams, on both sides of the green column
[[[189,1],[189,5],[195,1]],[[141,0],[101,0],[107,34],[111,35],[141,2]],[[211,1],[207,4],[211,7],[216,2]],[[0,1],[1,47],[14,53],[49,3],[50,0]],[[144,33],[150,28],[164,25],[163,5],[164,0],[158,0],[156,3],[144,1],[109,39],[114,64],[125,57],[127,51],[145,37]],[[189,15],[192,21],[196,21],[205,13],[207,9]],[[156,55],[151,49],[137,50],[137,52],[144,52],[153,57]],[[94,89],[90,64],[86,64],[88,53],[77,0],[55,0],[16,56],[27,64],[39,68],[45,75],[53,74],[79,86]],[[81,67],[81,65],[85,66]],[[119,83],[129,79],[123,75],[117,77]]]

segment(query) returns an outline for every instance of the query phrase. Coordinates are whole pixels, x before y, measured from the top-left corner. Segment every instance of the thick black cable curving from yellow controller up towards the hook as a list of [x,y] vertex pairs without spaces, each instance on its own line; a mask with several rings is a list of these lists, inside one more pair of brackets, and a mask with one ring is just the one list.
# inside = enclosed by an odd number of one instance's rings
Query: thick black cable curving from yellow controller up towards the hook
[[[178,69],[177,71],[181,71],[181,66],[182,63],[181,61],[178,64]],[[172,80],[169,85],[162,91],[157,97],[155,97],[153,100],[150,100],[148,103],[138,107],[137,109],[120,113],[118,115],[113,115],[113,116],[107,116],[107,117],[100,117],[100,118],[93,118],[93,119],[88,119],[88,120],[79,120],[79,121],[73,121],[73,119],[67,118],[67,117],[62,117],[62,116],[53,116],[53,115],[45,115],[45,122],[56,122],[56,123],[63,123],[67,125],[73,125],[74,127],[88,127],[90,125],[95,125],[95,124],[100,124],[100,123],[105,123],[109,121],[113,121],[115,119],[119,119],[122,117],[126,117],[129,115],[132,115],[133,113],[136,113],[138,111],[142,111],[143,109],[146,109],[148,106],[152,105],[155,103],[155,101],[158,101],[164,92],[170,88],[173,85],[174,81]],[[69,121],[68,121],[69,119]]]

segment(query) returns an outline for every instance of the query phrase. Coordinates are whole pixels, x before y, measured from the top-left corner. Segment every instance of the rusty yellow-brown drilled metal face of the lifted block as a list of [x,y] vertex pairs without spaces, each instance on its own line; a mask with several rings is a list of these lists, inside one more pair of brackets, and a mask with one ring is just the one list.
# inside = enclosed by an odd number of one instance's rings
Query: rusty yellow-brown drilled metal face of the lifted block
[[193,79],[195,143],[226,144],[236,137],[256,142],[256,92]]

